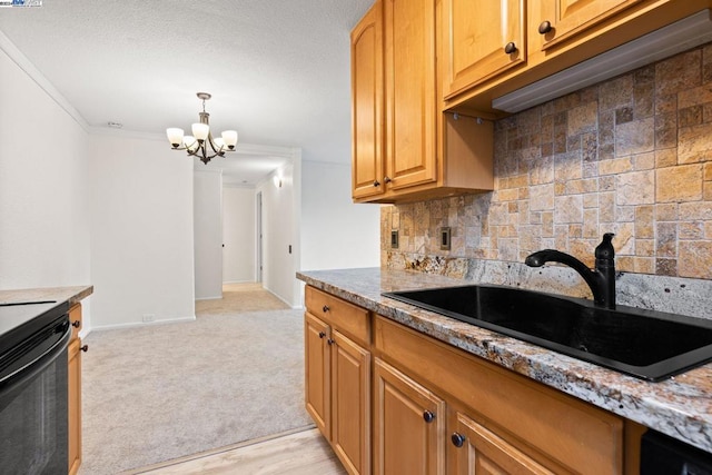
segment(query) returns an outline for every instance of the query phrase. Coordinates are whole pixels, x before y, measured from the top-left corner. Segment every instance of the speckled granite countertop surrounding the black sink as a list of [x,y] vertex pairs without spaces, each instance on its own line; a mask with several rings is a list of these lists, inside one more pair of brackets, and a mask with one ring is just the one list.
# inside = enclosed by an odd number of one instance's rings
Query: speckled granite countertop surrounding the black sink
[[465,284],[444,276],[365,268],[301,271],[297,273],[297,278],[473,355],[712,453],[712,364],[661,383],[649,383],[380,296],[384,291]]

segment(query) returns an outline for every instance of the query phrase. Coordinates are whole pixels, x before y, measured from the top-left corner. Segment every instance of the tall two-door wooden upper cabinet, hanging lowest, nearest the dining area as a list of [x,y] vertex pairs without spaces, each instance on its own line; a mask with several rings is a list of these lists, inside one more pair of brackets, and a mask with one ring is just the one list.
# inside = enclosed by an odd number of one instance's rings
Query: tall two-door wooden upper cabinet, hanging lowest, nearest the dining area
[[377,0],[352,31],[355,201],[493,189],[492,122],[442,112],[442,10],[439,0]]

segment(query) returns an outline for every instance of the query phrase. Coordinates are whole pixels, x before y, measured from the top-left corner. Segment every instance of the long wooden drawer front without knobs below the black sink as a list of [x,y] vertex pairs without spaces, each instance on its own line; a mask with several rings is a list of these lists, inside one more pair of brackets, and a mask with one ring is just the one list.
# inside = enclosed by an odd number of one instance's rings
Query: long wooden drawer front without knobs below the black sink
[[374,330],[380,357],[459,399],[530,456],[571,472],[623,472],[623,420],[615,415],[387,318],[377,316]]

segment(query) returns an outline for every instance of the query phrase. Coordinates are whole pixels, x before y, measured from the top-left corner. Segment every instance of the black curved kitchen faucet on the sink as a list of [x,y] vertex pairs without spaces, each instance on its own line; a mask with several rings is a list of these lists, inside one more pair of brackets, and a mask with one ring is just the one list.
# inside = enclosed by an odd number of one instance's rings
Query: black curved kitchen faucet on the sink
[[593,303],[605,308],[615,308],[615,253],[611,240],[613,232],[603,235],[603,240],[596,246],[596,266],[591,270],[575,257],[554,249],[538,250],[524,260],[530,267],[542,267],[546,263],[561,263],[581,274],[593,293]]

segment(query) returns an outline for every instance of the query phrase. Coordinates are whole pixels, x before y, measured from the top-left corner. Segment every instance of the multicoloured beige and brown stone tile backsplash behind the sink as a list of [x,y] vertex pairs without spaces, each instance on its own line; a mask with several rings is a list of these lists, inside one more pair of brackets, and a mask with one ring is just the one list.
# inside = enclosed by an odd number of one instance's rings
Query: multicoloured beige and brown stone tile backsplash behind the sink
[[555,248],[592,266],[604,232],[621,271],[712,279],[712,43],[498,120],[495,190],[384,206],[382,265],[464,278]]

